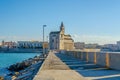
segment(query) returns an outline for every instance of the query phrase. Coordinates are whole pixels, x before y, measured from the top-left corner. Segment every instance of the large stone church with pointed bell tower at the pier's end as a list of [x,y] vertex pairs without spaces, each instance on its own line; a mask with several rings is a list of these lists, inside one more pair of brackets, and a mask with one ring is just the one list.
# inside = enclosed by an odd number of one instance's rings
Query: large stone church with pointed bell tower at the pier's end
[[51,50],[72,50],[74,49],[74,41],[70,35],[65,34],[63,22],[60,31],[53,31],[49,34],[49,46]]

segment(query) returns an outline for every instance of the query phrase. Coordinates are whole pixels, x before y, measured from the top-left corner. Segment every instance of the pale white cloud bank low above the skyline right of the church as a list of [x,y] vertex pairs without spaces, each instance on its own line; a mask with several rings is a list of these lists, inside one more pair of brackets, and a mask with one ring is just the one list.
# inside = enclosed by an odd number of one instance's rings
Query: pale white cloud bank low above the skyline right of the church
[[100,35],[72,35],[75,42],[99,43],[99,44],[115,44],[120,40],[118,36],[100,36]]

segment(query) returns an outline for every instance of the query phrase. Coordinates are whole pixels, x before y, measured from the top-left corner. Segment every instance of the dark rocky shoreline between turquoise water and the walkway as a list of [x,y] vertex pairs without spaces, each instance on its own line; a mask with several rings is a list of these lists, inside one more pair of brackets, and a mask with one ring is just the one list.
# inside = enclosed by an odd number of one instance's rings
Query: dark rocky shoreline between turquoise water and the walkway
[[0,69],[0,80],[32,80],[42,65],[45,57],[43,55],[29,58],[22,62],[13,64],[7,68]]

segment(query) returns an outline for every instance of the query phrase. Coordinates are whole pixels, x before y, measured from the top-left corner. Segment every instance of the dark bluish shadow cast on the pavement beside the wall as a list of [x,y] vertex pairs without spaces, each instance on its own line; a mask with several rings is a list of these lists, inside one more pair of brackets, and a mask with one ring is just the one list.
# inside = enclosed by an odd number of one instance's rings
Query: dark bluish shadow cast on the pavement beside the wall
[[75,70],[84,77],[89,77],[95,80],[120,80],[120,71],[107,69],[103,66],[99,66],[86,61],[81,61],[72,56],[65,54],[56,54],[65,64],[67,64],[72,70]]

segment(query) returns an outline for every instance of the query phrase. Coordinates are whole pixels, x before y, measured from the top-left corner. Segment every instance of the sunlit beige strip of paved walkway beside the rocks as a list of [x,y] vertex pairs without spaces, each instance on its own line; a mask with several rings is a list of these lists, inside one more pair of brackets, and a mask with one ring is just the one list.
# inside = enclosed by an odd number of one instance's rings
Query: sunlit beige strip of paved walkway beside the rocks
[[34,80],[86,80],[71,70],[54,53],[49,53]]

